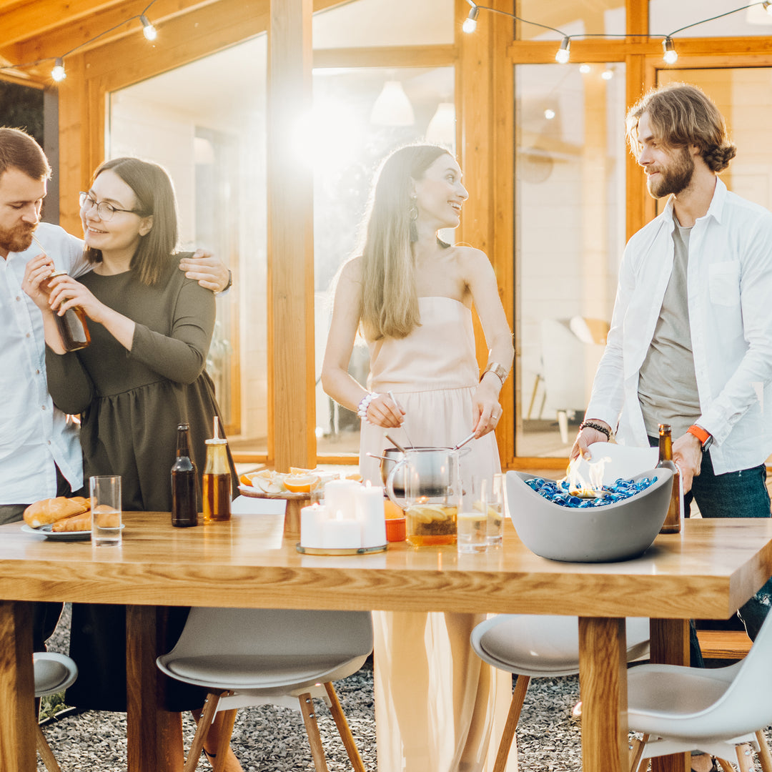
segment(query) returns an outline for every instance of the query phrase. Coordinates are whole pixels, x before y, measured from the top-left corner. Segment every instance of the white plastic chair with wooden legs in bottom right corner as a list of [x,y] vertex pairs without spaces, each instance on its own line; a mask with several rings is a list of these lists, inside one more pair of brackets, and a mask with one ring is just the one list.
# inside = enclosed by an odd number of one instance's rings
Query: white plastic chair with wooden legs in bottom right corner
[[631,770],[640,760],[702,750],[725,770],[735,757],[741,772],[753,769],[750,744],[761,768],[772,772],[762,729],[772,723],[772,615],[767,616],[745,659],[716,669],[639,665],[628,673],[628,724],[635,740]]

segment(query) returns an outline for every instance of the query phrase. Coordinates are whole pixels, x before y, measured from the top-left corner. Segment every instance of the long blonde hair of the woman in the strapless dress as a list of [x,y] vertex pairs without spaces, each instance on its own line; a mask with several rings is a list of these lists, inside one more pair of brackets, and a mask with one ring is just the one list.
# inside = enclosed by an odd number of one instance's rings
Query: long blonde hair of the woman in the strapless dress
[[[411,245],[411,183],[442,154],[438,145],[408,145],[381,164],[368,205],[362,249],[361,324],[368,340],[403,338],[420,323]],[[414,212],[415,214],[415,212]]]

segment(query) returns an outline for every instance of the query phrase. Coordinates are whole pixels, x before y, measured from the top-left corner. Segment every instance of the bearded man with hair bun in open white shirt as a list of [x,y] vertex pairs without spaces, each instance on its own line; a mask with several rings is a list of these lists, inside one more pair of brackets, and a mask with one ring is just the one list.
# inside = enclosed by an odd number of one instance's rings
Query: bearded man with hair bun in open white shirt
[[[716,176],[736,153],[706,95],[663,86],[628,112],[649,193],[670,196],[628,242],[608,344],[572,458],[617,438],[655,445],[673,427],[686,511],[769,517],[772,453],[772,214]],[[766,409],[765,409],[766,408]],[[751,638],[767,583],[740,615]]]

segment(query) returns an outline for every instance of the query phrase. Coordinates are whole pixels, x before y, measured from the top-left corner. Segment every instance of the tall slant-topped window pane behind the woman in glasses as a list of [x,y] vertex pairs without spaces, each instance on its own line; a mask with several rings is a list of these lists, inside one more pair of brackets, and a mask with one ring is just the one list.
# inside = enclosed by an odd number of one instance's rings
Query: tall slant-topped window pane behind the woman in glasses
[[169,171],[181,245],[212,249],[234,273],[207,371],[232,448],[253,452],[267,452],[268,428],[266,54],[259,36],[111,94],[107,141],[109,157]]

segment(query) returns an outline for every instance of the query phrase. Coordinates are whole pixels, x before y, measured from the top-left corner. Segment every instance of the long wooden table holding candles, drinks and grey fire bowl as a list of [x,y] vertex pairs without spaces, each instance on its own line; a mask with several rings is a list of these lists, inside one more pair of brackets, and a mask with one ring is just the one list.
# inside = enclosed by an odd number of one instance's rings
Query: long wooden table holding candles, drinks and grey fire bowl
[[[729,618],[772,575],[772,520],[687,520],[644,557],[562,564],[530,553],[510,523],[501,550],[404,544],[354,557],[300,555],[281,516],[174,529],[168,513],[124,513],[120,549],[0,527],[0,769],[36,769],[28,605],[128,604],[129,770],[178,772],[171,714],[154,688],[156,607],[344,608],[578,615],[584,772],[627,769],[625,616],[652,618],[652,659],[686,662],[689,618]],[[682,772],[684,757],[659,760]]]

